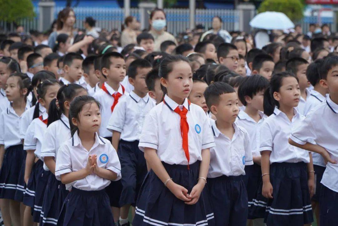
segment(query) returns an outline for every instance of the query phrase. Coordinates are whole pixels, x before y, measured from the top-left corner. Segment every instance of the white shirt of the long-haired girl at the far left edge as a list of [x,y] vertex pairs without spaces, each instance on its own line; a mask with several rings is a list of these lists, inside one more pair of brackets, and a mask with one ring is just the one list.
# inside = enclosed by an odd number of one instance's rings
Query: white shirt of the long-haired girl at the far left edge
[[[27,106],[26,109],[27,110]],[[0,144],[7,149],[10,146],[22,144],[19,125],[22,115],[19,116],[11,105],[0,114]]]

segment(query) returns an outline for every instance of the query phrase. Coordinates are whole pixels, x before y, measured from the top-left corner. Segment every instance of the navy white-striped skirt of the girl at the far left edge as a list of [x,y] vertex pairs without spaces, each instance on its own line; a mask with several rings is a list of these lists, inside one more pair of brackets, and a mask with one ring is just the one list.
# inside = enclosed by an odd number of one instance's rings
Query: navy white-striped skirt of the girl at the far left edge
[[15,195],[18,193],[18,201],[21,201],[19,194],[24,192],[24,185],[19,175],[26,154],[22,144],[6,149],[0,170],[0,199],[16,200]]

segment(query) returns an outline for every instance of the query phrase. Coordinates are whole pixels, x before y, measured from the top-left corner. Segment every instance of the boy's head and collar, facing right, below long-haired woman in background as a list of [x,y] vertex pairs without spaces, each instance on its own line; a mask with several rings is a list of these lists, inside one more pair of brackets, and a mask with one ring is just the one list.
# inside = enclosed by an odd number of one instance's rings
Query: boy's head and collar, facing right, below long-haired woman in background
[[64,85],[79,83],[82,77],[82,61],[83,58],[78,53],[70,52],[65,55],[63,61],[65,76],[60,78]]

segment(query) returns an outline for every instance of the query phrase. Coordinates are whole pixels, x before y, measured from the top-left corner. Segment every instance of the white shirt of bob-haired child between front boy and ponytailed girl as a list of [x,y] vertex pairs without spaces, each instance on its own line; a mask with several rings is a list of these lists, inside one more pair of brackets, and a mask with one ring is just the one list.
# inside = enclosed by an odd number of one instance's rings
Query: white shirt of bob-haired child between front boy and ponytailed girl
[[252,156],[254,157],[261,156],[259,151],[261,126],[263,121],[267,118],[263,112],[259,111],[258,113],[261,116],[261,119],[258,122],[252,119],[244,111],[240,111],[236,118],[236,124],[243,127],[249,133]]

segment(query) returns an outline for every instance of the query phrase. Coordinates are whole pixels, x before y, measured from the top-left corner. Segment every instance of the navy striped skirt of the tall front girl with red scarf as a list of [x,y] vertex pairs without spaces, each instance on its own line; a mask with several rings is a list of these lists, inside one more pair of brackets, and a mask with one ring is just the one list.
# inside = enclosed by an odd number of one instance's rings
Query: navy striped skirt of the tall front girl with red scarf
[[[197,161],[190,165],[170,165],[162,162],[172,180],[188,189],[196,185],[199,175]],[[136,203],[133,226],[215,225],[207,184],[195,205],[177,199],[163,182],[150,170],[144,179]]]

